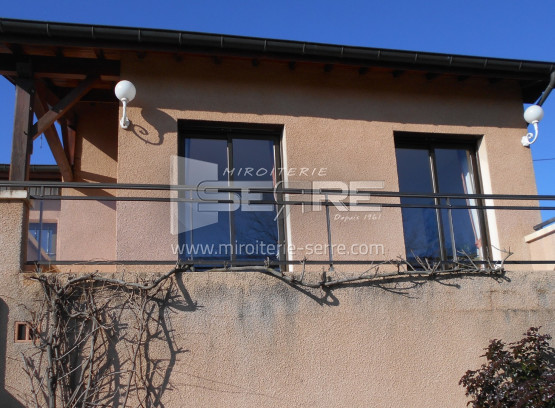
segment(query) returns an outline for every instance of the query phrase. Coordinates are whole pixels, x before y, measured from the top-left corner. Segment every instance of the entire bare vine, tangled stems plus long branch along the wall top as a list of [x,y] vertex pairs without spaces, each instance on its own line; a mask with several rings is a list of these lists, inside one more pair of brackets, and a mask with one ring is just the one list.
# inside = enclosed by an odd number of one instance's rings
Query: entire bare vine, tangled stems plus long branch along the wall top
[[[306,278],[311,275],[306,271],[306,259],[300,262],[300,274],[271,268],[269,260],[260,266],[214,268],[206,272],[260,272],[292,286],[329,290],[356,282],[413,276],[499,276],[511,256],[510,252],[505,254],[498,263],[473,259],[465,253],[448,264],[419,257],[414,257],[415,263],[411,264],[399,258],[372,262],[363,272],[350,276],[330,266],[315,280]],[[40,283],[43,300],[34,312],[32,323],[35,349],[22,355],[22,359],[35,408],[157,405],[166,385],[159,385],[156,390],[155,374],[160,367],[149,360],[146,344],[153,336],[151,327],[160,324],[157,318],[163,319],[164,314],[158,313],[156,317],[155,310],[161,311],[167,305],[174,275],[188,270],[189,266],[178,263],[158,277],[136,282],[98,272],[78,277],[40,272],[31,276],[31,280]],[[160,332],[154,330],[154,333]],[[171,342],[170,337],[165,333],[163,340]],[[116,366],[112,360],[124,354],[121,349],[118,354],[122,344],[129,354]],[[168,346],[176,352],[171,344]]]

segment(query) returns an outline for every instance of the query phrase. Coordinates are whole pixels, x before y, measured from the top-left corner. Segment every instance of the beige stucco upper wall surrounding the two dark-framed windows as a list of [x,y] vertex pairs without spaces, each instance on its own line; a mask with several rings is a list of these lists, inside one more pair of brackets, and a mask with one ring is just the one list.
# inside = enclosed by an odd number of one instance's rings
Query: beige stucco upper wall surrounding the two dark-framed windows
[[[154,54],[144,59],[128,55],[122,78],[136,85],[137,96],[128,109],[132,126],[119,130],[120,182],[168,183],[169,158],[177,153],[177,121],[202,119],[283,125],[284,165],[326,169],[322,177],[296,172],[288,181],[372,180],[391,191],[398,190],[395,132],[483,136],[478,154],[484,192],[536,193],[530,152],[519,143],[524,131],[520,95],[511,82],[449,76],[430,81],[415,73],[393,78],[379,70],[359,75],[345,67],[325,73],[319,65],[290,70],[285,63],[253,67],[250,61],[232,59],[176,62]],[[398,209],[383,209],[377,220],[348,221],[336,220],[334,211],[334,243],[383,245],[384,254],[373,258],[377,261],[404,256]],[[169,233],[168,213],[169,206],[160,204],[118,203],[118,258],[174,259],[170,248],[177,240]],[[529,260],[522,237],[539,222],[539,212],[488,215],[494,247],[510,248],[513,259]],[[296,207],[287,227],[288,243],[296,247],[327,243],[323,211],[302,214]],[[139,230],[146,233],[137,235]],[[304,257],[302,252],[290,255]]]

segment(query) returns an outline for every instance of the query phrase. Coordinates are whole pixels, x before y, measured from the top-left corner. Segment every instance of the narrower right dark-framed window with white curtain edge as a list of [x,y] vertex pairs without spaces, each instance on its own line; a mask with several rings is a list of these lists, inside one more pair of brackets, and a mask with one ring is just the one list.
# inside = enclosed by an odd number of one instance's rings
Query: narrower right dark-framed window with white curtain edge
[[[418,140],[418,142],[416,142]],[[475,143],[449,144],[425,136],[396,137],[402,193],[479,194]],[[407,205],[476,206],[479,200],[402,197]],[[477,209],[403,207],[407,260],[483,259],[485,221]]]

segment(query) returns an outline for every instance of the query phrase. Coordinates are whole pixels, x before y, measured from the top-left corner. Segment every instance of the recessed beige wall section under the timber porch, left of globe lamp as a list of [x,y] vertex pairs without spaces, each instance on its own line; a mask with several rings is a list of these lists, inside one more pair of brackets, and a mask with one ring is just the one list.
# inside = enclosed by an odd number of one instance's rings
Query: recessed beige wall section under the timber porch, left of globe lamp
[[[116,105],[83,102],[77,106],[76,114],[74,181],[117,182]],[[64,189],[63,194],[110,197],[116,193],[97,189]],[[58,259],[113,261],[116,256],[115,231],[114,201],[63,200],[58,220]],[[76,266],[70,268],[75,270]]]

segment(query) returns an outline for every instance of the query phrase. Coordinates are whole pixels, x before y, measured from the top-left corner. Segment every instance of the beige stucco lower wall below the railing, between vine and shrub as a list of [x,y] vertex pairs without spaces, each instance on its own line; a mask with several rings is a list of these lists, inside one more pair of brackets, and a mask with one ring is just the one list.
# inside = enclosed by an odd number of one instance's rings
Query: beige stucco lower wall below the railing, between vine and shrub
[[[255,273],[184,274],[185,350],[168,407],[464,407],[492,338],[553,334],[549,273],[406,280],[303,293]],[[186,310],[189,310],[188,312]],[[169,358],[169,356],[166,356]]]

